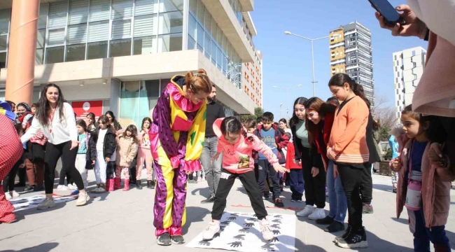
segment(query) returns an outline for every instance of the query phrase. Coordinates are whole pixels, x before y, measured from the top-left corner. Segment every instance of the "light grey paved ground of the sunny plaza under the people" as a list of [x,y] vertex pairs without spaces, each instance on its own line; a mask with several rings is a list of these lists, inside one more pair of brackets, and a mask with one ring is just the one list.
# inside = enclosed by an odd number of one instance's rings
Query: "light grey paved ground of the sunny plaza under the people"
[[[93,180],[91,172],[89,181]],[[374,214],[365,215],[370,248],[362,251],[412,251],[412,235],[407,226],[407,214],[395,218],[395,194],[391,193],[390,177],[373,176]],[[93,186],[93,183],[90,183]],[[199,234],[210,219],[211,204],[200,204],[208,195],[207,182],[188,184],[188,221],[183,229],[187,241]],[[61,191],[57,191],[61,193]],[[22,197],[37,193],[23,194]],[[455,195],[455,190],[452,191]],[[75,202],[57,204],[53,209],[18,212],[20,221],[0,225],[0,251],[204,251],[203,248],[186,248],[172,245],[158,246],[153,228],[154,190],[132,188],[118,190],[90,200],[85,207]],[[304,203],[289,201],[288,189],[283,193],[286,207],[304,207]],[[232,207],[232,204],[249,206],[248,197],[237,181],[228,198],[229,211],[252,212],[249,208]],[[451,202],[455,204],[455,202]],[[271,202],[266,205],[272,207]],[[328,206],[325,207],[328,209]],[[267,209],[273,213],[294,214],[295,211]],[[455,218],[451,209],[447,235],[455,241]],[[298,218],[296,223],[296,251],[342,251],[333,244],[334,235],[323,232],[323,226],[314,221]],[[451,243],[455,247],[455,243]]]

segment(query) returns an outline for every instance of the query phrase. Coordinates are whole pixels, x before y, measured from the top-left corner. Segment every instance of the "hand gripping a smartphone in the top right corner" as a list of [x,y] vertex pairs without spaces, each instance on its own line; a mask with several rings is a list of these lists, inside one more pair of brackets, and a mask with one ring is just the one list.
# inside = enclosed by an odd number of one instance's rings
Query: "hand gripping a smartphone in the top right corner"
[[405,24],[403,25],[400,24],[400,22],[395,22],[395,24],[391,25],[390,22],[386,22],[386,18],[381,15],[381,13],[377,12],[375,16],[379,21],[381,28],[391,30],[393,36],[425,37],[426,25],[416,17],[415,13],[411,10],[411,8],[409,8],[409,6],[402,4],[395,8],[395,11],[400,11],[398,15],[400,15],[401,20],[403,20]]

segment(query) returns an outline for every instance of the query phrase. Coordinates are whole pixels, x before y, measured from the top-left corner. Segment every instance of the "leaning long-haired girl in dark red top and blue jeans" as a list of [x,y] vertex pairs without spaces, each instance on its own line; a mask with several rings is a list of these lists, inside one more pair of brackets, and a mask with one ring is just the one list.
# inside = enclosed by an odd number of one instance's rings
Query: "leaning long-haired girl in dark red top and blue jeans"
[[322,158],[313,158],[312,160],[314,163],[323,162],[323,167],[327,173],[325,183],[328,188],[330,212],[325,218],[316,220],[316,223],[320,225],[329,225],[324,229],[325,232],[344,230],[344,218],[347,210],[346,195],[342,181],[338,176],[337,167],[334,167],[333,160],[327,158],[327,144],[330,139],[333,118],[335,118],[335,109],[338,105],[337,102],[323,102],[318,97],[312,97],[308,100],[305,108],[309,143]]

